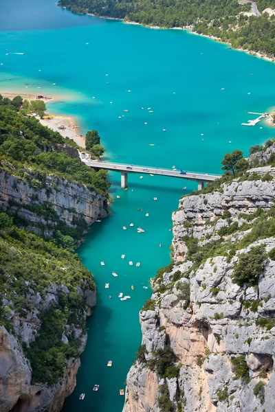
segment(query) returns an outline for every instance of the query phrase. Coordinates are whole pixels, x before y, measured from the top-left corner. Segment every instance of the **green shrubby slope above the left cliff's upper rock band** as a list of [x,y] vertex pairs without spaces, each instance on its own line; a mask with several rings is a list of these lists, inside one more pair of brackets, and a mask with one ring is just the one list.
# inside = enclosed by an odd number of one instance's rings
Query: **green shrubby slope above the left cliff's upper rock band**
[[[38,189],[45,185],[46,174],[52,174],[83,183],[89,190],[108,197],[110,184],[107,182],[107,172],[95,172],[79,158],[72,159],[67,152],[58,151],[60,144],[72,142],[71,146],[76,145],[69,139],[63,139],[58,132],[42,126],[34,117],[25,116],[24,110],[17,111],[11,100],[0,95],[0,161],[5,159],[5,165],[2,163],[0,170],[12,168],[13,174],[38,185]],[[26,170],[25,166],[31,170]]]

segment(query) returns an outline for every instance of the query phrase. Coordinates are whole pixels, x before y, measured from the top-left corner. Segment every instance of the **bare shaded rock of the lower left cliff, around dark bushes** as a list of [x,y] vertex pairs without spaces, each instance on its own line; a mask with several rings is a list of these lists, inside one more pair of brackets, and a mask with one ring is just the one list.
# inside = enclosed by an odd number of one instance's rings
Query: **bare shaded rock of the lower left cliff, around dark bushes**
[[[85,286],[83,286],[83,290]],[[3,325],[0,326],[0,411],[1,412],[59,412],[63,407],[64,400],[76,386],[76,373],[80,366],[79,357],[69,358],[63,378],[54,385],[43,385],[32,383],[32,368],[26,358],[21,343],[27,347],[39,335],[41,328],[41,312],[47,310],[58,301],[58,293],[62,290],[68,294],[65,287],[57,286],[44,291],[42,298],[39,293],[35,299],[28,300],[32,303],[32,310],[28,312],[28,319],[20,317],[14,311],[11,314],[15,334],[8,332]],[[78,290],[81,295],[83,290]],[[83,313],[86,317],[91,313],[91,308],[96,304],[96,290],[86,290],[87,308]],[[67,329],[67,330],[66,330]],[[80,337],[78,353],[83,352],[87,341],[86,332],[71,328],[67,325],[63,341],[67,336]]]

